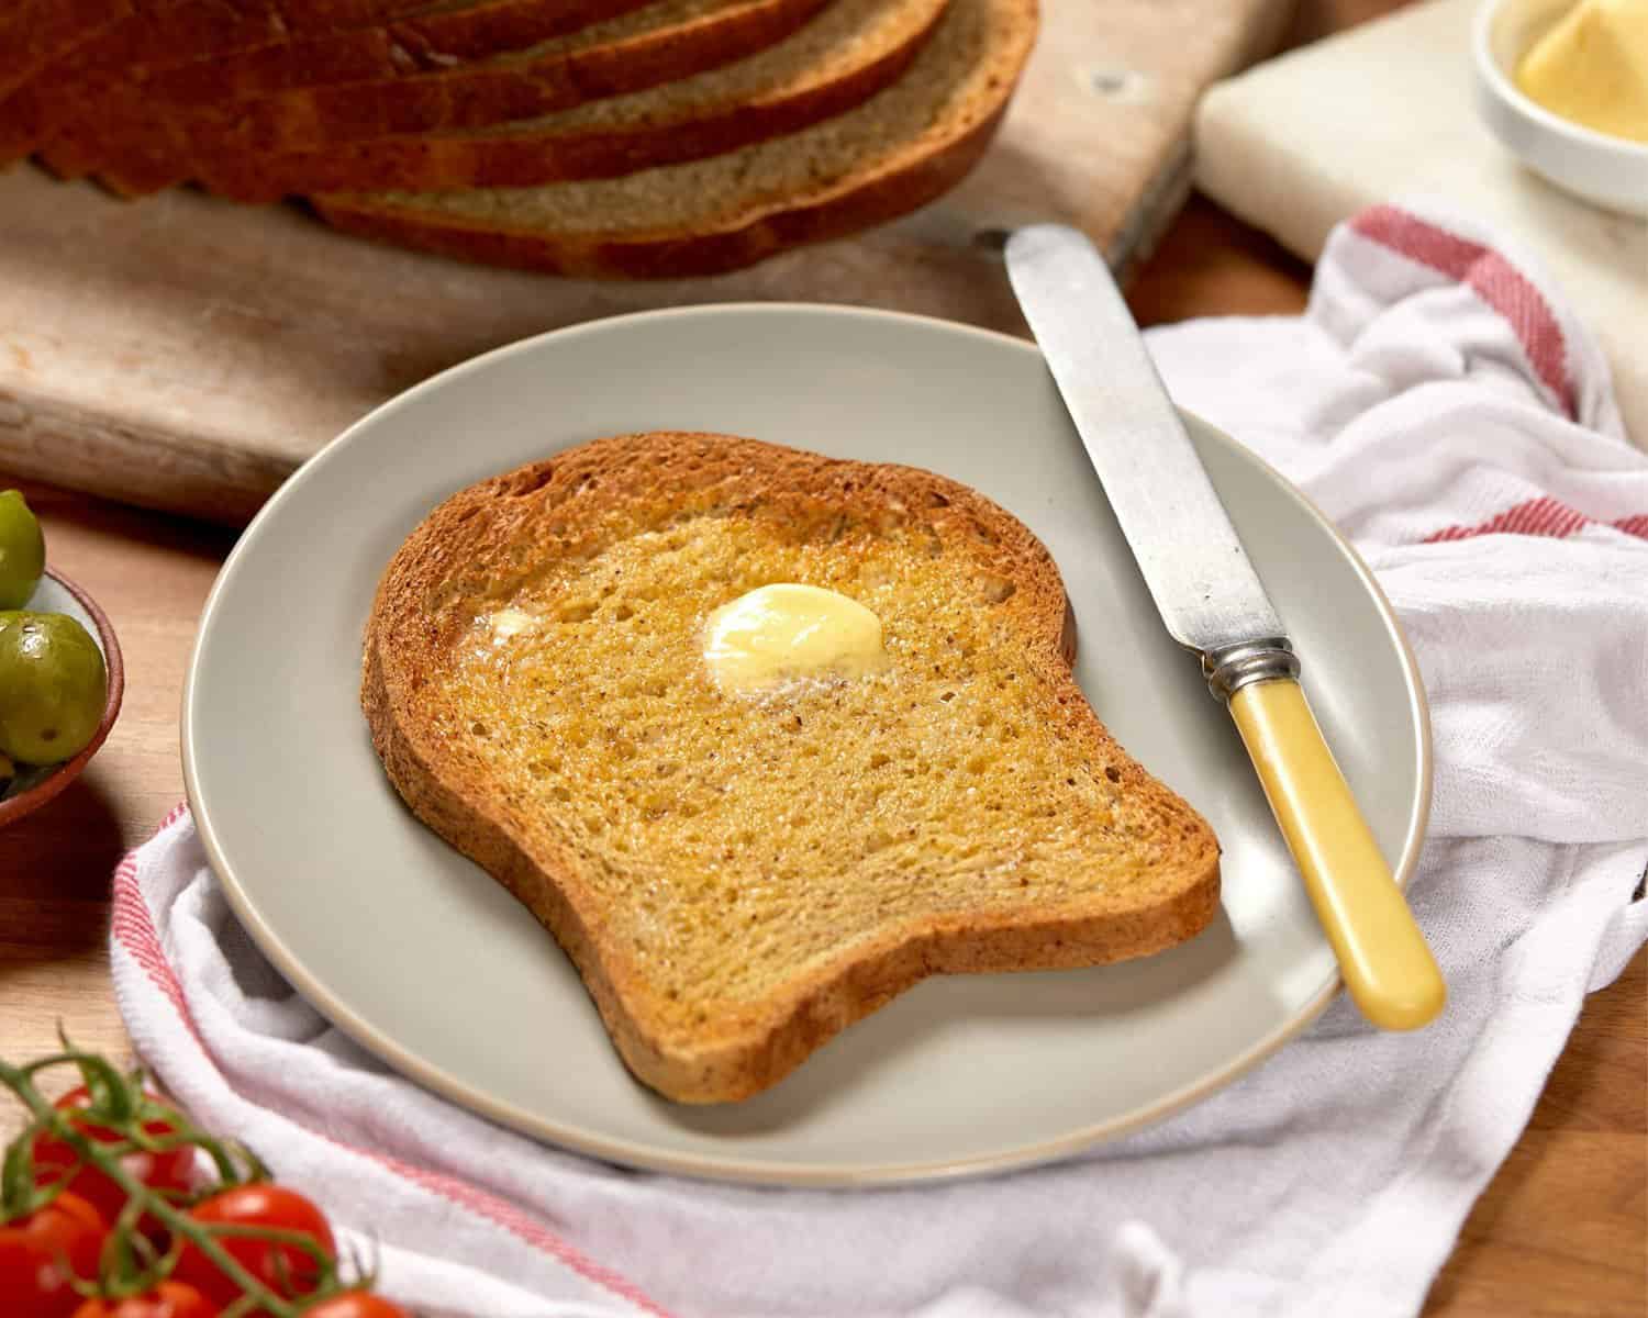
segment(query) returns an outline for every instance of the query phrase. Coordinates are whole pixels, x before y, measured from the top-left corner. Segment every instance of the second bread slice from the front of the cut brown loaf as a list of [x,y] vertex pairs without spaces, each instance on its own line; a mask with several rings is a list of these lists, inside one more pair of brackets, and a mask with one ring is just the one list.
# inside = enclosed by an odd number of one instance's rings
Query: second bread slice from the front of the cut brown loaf
[[948,0],[837,0],[776,46],[662,87],[555,115],[316,152],[199,161],[196,176],[237,201],[290,193],[440,191],[602,178],[737,150],[842,114],[890,84]]

